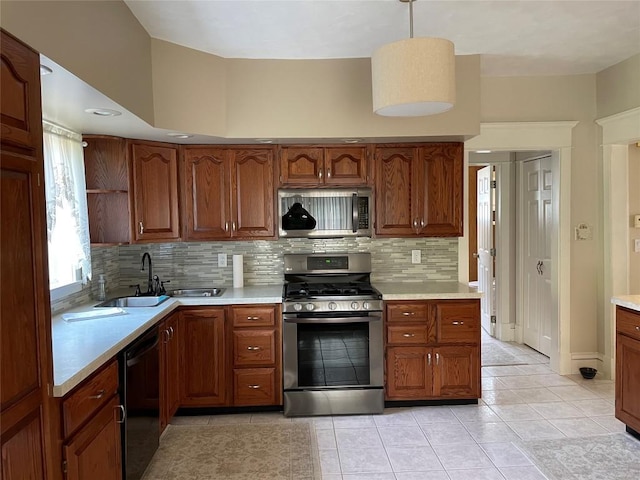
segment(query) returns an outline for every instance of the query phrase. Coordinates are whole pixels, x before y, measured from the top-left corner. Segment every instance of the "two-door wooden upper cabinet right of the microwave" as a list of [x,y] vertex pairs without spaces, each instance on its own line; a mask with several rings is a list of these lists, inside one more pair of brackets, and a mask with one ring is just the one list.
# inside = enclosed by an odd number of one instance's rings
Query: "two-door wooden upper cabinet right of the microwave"
[[376,147],[376,234],[462,235],[462,144]]

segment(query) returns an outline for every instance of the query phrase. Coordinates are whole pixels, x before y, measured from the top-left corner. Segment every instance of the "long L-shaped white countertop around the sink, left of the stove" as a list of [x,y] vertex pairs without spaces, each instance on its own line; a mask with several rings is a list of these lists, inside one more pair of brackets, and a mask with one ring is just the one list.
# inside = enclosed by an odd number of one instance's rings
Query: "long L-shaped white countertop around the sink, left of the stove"
[[[91,310],[97,302],[67,312]],[[66,322],[51,319],[53,396],[62,397],[179,306],[282,303],[282,285],[227,288],[219,297],[170,298],[157,307],[123,308],[124,315]]]

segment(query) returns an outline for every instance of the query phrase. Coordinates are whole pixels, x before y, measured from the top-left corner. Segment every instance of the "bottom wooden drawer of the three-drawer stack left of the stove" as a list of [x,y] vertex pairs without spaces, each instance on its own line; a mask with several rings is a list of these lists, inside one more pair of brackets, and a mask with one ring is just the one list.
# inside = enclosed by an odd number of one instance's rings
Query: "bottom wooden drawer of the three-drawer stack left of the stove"
[[233,371],[235,405],[275,405],[275,368],[238,368]]

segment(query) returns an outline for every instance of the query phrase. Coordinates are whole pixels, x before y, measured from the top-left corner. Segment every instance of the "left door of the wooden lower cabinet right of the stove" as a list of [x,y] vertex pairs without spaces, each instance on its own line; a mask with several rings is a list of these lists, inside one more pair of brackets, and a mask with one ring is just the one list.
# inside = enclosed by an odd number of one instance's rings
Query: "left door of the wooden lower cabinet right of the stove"
[[419,400],[431,396],[431,350],[387,347],[387,400]]

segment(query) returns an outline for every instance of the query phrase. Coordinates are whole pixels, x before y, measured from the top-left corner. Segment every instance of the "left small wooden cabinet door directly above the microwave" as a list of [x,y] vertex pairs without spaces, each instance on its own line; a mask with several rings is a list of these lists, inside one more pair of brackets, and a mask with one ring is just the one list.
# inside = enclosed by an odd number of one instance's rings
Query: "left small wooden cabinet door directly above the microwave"
[[280,183],[283,185],[318,185],[324,178],[322,147],[282,147]]

